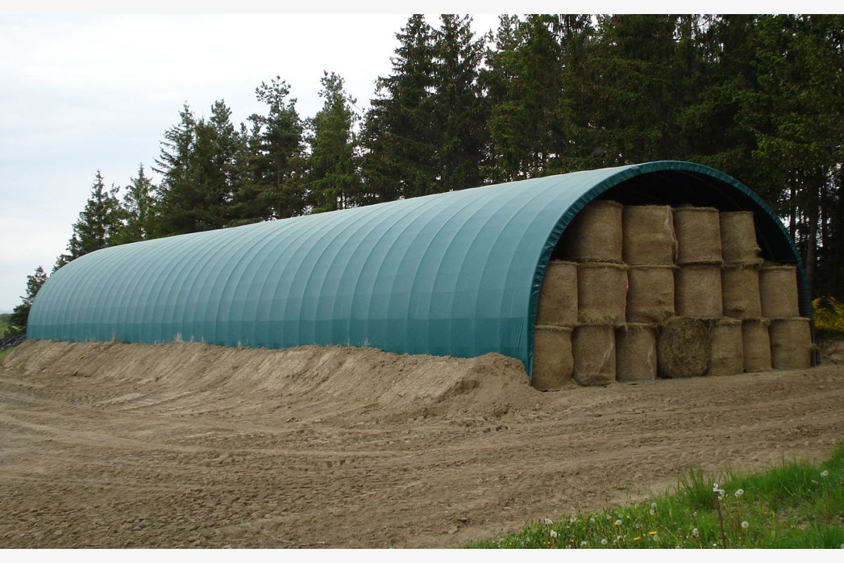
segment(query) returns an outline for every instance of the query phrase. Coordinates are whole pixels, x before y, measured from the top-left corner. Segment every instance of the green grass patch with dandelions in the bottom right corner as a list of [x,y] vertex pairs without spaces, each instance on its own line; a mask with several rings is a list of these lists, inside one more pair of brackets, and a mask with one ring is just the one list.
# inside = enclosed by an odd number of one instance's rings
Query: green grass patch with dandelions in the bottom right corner
[[[828,474],[825,474],[828,472]],[[721,533],[713,485],[723,490]],[[740,492],[739,492],[740,491]],[[782,463],[758,474],[690,471],[671,494],[532,522],[470,548],[844,548],[844,444],[825,463]]]

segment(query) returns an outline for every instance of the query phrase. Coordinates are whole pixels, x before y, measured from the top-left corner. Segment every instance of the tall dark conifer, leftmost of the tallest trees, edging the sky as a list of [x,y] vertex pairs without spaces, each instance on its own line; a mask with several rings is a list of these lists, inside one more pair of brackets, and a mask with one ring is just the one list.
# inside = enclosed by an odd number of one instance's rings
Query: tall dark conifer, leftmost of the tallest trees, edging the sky
[[392,72],[376,82],[363,133],[369,202],[437,191],[433,35],[423,15],[411,16],[396,34]]

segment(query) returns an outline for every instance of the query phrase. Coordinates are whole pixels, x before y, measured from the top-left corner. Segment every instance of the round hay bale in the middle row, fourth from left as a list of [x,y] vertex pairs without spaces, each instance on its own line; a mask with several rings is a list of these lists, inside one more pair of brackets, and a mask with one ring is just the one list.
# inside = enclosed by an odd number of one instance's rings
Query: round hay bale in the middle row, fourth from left
[[675,271],[674,310],[679,317],[721,317],[721,267],[687,264]]

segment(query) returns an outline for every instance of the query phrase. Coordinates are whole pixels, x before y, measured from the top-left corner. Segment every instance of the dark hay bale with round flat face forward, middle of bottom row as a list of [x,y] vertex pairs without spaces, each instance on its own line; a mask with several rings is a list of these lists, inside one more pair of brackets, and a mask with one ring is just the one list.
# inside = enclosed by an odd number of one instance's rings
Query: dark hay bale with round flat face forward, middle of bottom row
[[657,338],[657,370],[663,377],[706,375],[711,355],[710,322],[672,317]]

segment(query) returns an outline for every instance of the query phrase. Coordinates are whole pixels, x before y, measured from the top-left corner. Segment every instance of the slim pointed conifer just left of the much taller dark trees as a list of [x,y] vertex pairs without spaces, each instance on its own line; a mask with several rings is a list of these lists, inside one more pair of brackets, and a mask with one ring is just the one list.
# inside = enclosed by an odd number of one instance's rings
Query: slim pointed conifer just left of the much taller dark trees
[[349,207],[360,187],[353,131],[356,100],[346,94],[337,74],[324,73],[321,82],[322,110],[308,122],[311,154],[305,185],[313,213]]

